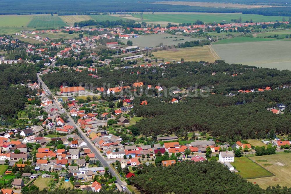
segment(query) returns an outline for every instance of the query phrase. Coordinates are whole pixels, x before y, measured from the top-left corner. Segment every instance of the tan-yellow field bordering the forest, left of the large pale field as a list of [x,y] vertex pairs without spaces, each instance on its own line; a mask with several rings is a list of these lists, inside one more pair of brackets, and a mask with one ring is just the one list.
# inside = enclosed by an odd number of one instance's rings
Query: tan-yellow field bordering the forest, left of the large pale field
[[157,58],[175,61],[180,61],[181,58],[184,58],[184,61],[214,62],[219,59],[215,52],[211,52],[211,46],[209,45],[157,51],[152,54]]

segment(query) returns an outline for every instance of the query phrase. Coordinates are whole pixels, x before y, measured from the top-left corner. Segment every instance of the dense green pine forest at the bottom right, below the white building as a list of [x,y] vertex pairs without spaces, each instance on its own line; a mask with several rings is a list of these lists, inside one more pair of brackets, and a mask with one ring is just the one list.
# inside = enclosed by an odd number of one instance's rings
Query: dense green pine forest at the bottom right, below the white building
[[141,193],[290,193],[280,186],[261,189],[216,161],[182,162],[175,166],[143,166],[129,182]]

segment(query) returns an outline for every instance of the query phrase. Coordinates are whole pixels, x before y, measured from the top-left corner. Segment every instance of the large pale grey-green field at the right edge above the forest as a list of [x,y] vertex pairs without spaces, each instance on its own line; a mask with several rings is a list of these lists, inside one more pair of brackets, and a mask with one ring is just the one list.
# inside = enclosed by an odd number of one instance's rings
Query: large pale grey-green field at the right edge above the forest
[[230,64],[291,70],[289,41],[214,44],[212,48],[222,60]]

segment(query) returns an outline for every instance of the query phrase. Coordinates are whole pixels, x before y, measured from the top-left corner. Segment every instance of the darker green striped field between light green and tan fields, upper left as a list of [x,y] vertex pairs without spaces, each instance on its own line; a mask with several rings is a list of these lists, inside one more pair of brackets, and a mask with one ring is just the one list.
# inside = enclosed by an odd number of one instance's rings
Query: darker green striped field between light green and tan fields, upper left
[[65,22],[57,15],[33,16],[28,27],[33,28],[56,28],[66,26]]

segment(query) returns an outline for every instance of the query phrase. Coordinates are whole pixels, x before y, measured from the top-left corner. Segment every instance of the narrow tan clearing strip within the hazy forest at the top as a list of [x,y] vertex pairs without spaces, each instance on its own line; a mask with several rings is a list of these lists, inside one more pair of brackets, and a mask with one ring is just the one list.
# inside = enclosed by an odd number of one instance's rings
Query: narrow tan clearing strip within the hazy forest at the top
[[246,5],[236,3],[210,3],[210,2],[189,2],[189,1],[157,1],[155,4],[167,4],[167,5],[186,5],[186,6],[199,6],[199,7],[216,7],[216,8],[269,8],[279,6],[269,5]]

